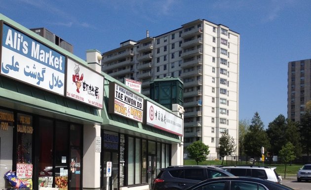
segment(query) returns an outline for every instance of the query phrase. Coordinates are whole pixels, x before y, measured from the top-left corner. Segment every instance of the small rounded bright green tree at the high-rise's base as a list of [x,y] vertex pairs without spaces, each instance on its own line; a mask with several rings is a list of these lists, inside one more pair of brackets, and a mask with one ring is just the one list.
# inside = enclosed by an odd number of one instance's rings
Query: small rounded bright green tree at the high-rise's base
[[207,159],[207,155],[209,154],[208,149],[209,146],[200,141],[193,142],[187,147],[189,158],[194,159],[196,165]]

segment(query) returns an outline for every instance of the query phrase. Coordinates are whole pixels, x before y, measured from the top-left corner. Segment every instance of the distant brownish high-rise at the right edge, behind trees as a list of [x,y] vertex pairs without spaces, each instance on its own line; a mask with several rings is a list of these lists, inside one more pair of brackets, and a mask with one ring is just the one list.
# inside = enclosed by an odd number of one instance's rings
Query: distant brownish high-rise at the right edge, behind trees
[[311,99],[311,59],[288,62],[287,118],[300,121]]

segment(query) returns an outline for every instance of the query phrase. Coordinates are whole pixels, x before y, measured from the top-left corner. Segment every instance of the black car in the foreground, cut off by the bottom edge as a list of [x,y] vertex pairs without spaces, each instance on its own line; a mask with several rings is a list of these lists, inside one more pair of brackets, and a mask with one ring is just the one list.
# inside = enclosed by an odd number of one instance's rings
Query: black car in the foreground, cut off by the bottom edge
[[252,177],[220,177],[204,180],[187,190],[293,190],[287,186]]

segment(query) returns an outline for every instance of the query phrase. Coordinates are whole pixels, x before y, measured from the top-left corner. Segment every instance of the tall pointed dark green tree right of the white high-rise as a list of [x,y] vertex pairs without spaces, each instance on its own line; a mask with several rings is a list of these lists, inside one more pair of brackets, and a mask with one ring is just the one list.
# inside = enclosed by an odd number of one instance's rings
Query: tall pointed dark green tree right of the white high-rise
[[[256,112],[251,120],[249,131],[245,135],[244,148],[247,155],[255,158],[261,156],[262,146],[269,149],[270,143],[264,130],[264,123],[261,121],[259,113]],[[255,159],[253,162],[255,162]]]

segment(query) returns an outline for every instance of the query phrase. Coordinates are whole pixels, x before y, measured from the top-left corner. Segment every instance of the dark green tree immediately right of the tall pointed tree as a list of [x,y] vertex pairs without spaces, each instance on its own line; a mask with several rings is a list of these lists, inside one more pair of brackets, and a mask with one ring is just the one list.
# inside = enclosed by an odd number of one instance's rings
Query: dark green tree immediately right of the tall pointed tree
[[287,128],[287,122],[284,115],[278,115],[271,123],[269,123],[267,129],[267,135],[270,140],[271,148],[270,152],[273,155],[277,155],[278,151],[286,144],[285,138]]

